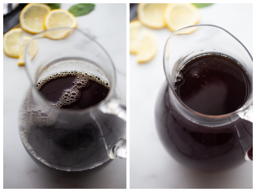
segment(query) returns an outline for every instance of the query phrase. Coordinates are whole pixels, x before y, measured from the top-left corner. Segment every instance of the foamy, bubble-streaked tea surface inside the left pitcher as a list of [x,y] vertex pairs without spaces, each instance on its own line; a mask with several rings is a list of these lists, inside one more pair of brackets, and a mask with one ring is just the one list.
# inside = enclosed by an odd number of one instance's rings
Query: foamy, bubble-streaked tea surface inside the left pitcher
[[37,89],[53,107],[83,109],[104,100],[110,85],[88,72],[62,71],[41,79]]

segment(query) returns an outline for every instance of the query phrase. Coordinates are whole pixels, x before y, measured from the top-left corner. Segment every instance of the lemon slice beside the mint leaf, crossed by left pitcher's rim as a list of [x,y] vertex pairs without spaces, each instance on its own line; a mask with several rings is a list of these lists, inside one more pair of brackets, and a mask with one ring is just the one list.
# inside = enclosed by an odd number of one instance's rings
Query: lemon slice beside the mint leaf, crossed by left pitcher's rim
[[[63,9],[54,9],[49,12],[44,18],[44,27],[46,29],[52,29],[56,27],[70,27],[76,28],[77,20],[76,17]],[[51,39],[66,38],[71,30],[58,29],[52,32],[47,32],[46,37]]]

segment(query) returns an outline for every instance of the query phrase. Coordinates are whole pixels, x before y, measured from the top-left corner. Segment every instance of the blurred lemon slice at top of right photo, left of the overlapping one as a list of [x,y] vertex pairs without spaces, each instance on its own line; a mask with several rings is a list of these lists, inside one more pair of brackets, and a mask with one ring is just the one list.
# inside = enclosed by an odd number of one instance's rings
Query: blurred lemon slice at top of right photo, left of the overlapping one
[[164,9],[167,3],[140,3],[137,8],[138,18],[151,28],[164,28]]

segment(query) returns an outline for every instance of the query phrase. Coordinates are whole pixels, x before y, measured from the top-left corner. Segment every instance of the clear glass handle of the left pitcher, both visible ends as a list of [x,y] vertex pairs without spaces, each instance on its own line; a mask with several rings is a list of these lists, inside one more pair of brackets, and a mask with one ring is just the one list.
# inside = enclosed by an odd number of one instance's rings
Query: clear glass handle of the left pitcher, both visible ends
[[[126,121],[126,106],[120,103],[118,99],[111,99],[106,105],[103,105],[100,110],[106,114],[112,114]],[[122,158],[126,159],[126,139],[120,139],[112,146],[109,157],[111,159]]]

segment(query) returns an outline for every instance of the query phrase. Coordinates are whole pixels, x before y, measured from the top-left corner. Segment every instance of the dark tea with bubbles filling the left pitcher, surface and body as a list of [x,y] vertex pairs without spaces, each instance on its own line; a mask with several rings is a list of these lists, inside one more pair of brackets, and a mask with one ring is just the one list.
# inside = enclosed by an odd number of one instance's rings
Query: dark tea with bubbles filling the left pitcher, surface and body
[[[118,135],[124,135],[124,130],[117,126],[121,120],[100,112],[99,119],[93,111],[84,116],[76,113],[104,100],[109,89],[105,79],[84,71],[62,71],[38,81],[37,91],[49,106],[57,110],[65,108],[74,114],[49,114],[34,103],[30,92],[27,94],[20,108],[19,130],[32,159],[44,169],[68,177],[95,172],[109,164],[112,160],[104,138],[115,141]],[[100,121],[104,122],[104,135]],[[109,136],[113,132],[116,134]]]

